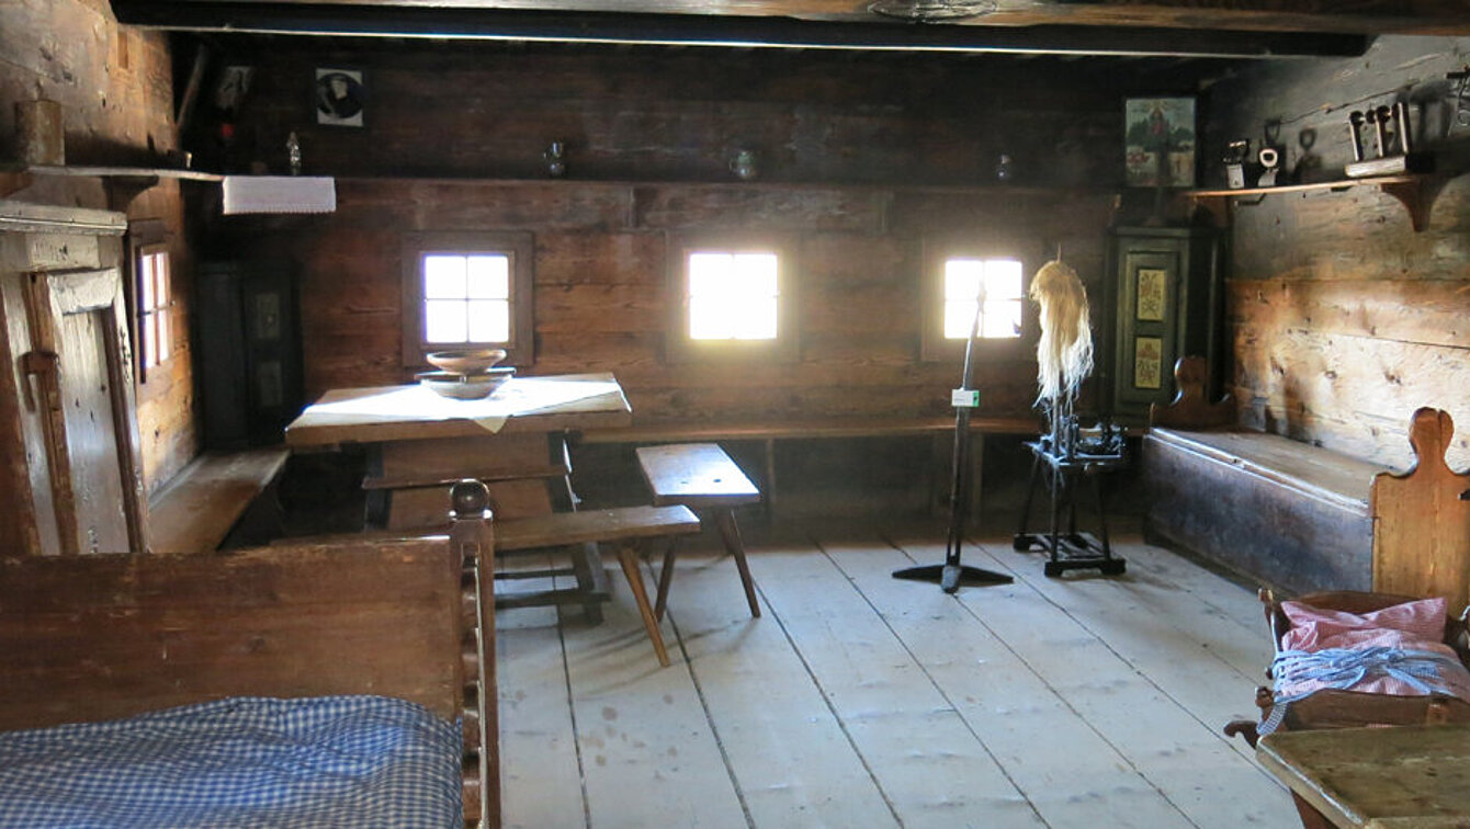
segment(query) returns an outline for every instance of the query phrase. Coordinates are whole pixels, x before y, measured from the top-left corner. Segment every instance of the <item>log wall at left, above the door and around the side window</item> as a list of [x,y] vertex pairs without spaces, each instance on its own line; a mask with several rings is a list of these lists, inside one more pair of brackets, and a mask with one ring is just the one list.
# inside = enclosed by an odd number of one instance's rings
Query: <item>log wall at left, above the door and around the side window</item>
[[[178,147],[173,65],[168,37],[121,26],[106,0],[19,0],[0,4],[0,159],[18,156],[15,103],[59,101],[71,165],[159,166]],[[13,200],[96,209],[109,203],[100,179],[37,176]],[[138,426],[148,491],[196,453],[193,360],[188,344],[191,250],[178,182],[165,181],[126,206],[129,220],[166,228],[173,269],[172,357],[138,387]]]

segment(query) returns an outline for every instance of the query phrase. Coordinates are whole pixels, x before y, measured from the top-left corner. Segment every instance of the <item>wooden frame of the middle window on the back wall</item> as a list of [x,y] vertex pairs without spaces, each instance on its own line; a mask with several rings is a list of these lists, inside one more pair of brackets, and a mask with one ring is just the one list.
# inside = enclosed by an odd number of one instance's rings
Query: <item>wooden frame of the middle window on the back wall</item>
[[[694,340],[689,337],[688,262],[689,254],[698,251],[776,254],[776,337],[770,340]],[[667,256],[666,362],[795,362],[800,357],[798,257],[794,237],[757,231],[684,234],[670,240]]]

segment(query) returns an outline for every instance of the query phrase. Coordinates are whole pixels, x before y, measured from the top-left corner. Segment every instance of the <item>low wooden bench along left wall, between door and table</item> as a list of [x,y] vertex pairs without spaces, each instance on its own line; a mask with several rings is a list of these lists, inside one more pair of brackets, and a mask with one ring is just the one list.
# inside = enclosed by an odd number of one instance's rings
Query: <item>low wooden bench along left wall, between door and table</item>
[[148,550],[163,556],[259,544],[279,529],[273,485],[290,450],[209,451],[148,501]]

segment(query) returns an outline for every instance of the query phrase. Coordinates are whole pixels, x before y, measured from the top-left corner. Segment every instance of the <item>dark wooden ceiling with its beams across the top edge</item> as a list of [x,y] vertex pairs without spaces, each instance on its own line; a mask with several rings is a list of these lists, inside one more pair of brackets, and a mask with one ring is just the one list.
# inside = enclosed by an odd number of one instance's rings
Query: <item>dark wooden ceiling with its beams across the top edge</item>
[[1470,0],[112,0],[175,31],[741,47],[1294,57],[1470,34]]

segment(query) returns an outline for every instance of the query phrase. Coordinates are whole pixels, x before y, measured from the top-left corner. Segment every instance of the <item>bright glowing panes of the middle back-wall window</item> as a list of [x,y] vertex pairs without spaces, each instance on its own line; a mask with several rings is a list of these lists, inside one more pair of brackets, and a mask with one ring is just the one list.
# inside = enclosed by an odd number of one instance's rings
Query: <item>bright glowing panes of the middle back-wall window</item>
[[689,251],[689,338],[775,340],[779,273],[769,251]]

